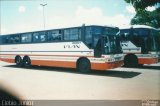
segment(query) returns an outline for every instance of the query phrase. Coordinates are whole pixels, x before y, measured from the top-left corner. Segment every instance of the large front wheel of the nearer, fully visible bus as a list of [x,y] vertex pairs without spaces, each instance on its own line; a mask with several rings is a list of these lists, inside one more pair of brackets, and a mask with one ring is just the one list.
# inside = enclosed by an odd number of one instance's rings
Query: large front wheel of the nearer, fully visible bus
[[89,73],[91,71],[90,61],[87,58],[78,59],[77,70],[82,73]]

